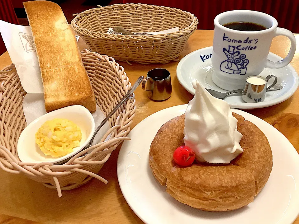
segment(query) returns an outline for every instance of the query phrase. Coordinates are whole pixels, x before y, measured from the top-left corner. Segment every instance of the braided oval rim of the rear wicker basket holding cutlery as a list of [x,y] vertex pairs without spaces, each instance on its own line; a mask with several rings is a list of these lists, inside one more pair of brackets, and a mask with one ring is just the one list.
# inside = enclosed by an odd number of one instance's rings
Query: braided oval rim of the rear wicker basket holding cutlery
[[[118,6],[149,6],[149,7],[156,7],[156,8],[162,8],[162,9],[172,9],[172,10],[177,10],[179,12],[184,12],[186,14],[188,14],[189,16],[191,16],[192,18],[192,22],[189,26],[185,27],[184,29],[182,30],[179,30],[179,31],[175,31],[175,32],[170,32],[170,33],[167,33],[167,34],[151,34],[151,35],[123,35],[123,34],[110,34],[110,33],[102,33],[102,32],[99,32],[99,31],[91,31],[91,30],[88,30],[86,28],[81,28],[77,22],[78,22],[78,19],[79,18],[82,18],[84,16],[87,16],[87,15],[91,15],[93,14],[94,12],[98,12],[98,9],[106,9],[106,8],[111,8],[111,7],[114,7],[114,8],[117,8]],[[93,11],[93,12],[90,12],[90,13],[87,13],[88,11]],[[194,15],[194,14],[191,14],[190,12],[187,12],[187,11],[183,11],[181,9],[178,9],[178,8],[171,8],[171,7],[166,7],[166,6],[155,6],[155,5],[148,5],[148,4],[142,4],[142,3],[127,3],[127,4],[114,4],[114,5],[111,5],[111,6],[100,6],[98,5],[97,8],[92,8],[92,9],[88,9],[84,12],[80,12],[80,13],[77,13],[77,14],[73,14],[74,19],[72,19],[71,21],[71,25],[73,27],[73,29],[76,31],[76,32],[80,32],[78,31],[77,27],[80,28],[80,30],[83,30],[83,31],[88,31],[89,33],[93,34],[93,35],[103,35],[105,37],[112,37],[114,38],[115,36],[118,37],[118,36],[125,36],[127,38],[130,38],[130,37],[135,37],[135,36],[142,36],[143,38],[145,39],[151,39],[153,38],[154,36],[161,36],[161,37],[168,37],[169,35],[169,38],[173,38],[172,34],[178,34],[178,35],[185,35],[186,33],[190,33],[190,29],[194,29],[194,27],[197,28],[197,24],[198,24],[198,20],[197,20],[197,17]],[[196,29],[195,28],[195,29]],[[187,31],[188,30],[188,31]],[[81,33],[81,32],[80,32]]]

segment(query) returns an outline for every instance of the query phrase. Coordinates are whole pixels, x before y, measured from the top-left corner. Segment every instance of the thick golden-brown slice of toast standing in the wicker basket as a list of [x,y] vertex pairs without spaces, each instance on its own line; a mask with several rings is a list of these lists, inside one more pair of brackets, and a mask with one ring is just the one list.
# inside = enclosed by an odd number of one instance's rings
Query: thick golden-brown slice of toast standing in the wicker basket
[[71,105],[96,110],[96,100],[75,36],[54,2],[23,3],[40,64],[47,112]]

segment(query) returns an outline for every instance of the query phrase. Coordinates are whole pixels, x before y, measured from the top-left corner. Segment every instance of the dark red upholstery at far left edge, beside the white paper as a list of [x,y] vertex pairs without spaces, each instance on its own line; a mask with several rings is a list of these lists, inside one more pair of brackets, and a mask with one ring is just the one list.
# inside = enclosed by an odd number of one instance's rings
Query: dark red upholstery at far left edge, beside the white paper
[[[10,0],[0,0],[0,20],[13,24],[19,24],[18,18]],[[6,48],[0,35],[0,55],[3,54],[5,51]]]

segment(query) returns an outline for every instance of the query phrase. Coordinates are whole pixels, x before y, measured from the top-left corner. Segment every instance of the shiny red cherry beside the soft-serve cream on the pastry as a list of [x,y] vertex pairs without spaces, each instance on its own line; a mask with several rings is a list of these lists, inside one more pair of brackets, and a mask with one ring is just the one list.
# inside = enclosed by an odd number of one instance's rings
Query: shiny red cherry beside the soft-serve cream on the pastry
[[173,160],[180,166],[190,166],[195,159],[195,153],[188,146],[180,146],[173,153]]

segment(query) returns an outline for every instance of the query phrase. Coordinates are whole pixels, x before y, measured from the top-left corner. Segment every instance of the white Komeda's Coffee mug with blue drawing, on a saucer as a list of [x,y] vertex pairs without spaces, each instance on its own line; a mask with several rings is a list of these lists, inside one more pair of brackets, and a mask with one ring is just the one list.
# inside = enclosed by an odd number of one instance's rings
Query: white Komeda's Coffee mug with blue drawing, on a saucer
[[[267,29],[240,31],[223,26],[231,22],[252,22]],[[212,65],[215,71],[212,80],[222,89],[242,89],[247,77],[259,75],[264,68],[282,68],[294,57],[294,34],[278,28],[276,19],[268,14],[249,10],[228,11],[216,16],[214,24]],[[291,49],[286,58],[273,62],[268,60],[268,54],[273,38],[279,35],[291,40]]]

